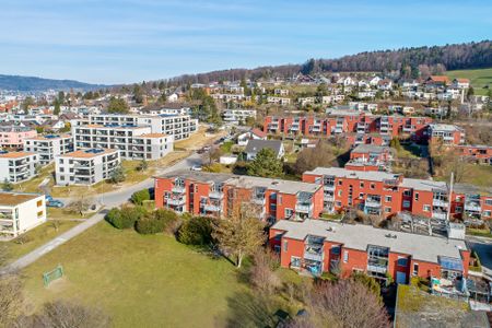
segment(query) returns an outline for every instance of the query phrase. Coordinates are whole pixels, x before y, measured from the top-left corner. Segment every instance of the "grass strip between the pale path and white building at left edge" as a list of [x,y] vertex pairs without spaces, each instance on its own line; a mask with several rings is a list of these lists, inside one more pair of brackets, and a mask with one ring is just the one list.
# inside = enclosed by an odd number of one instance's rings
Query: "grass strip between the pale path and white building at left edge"
[[[40,245],[51,241],[56,236],[75,226],[80,222],[62,221],[58,224],[58,230],[55,229],[52,222],[46,222],[39,226],[36,226],[32,231],[25,233],[22,237],[23,244],[19,244],[14,241],[7,242],[8,248],[8,261],[13,261],[23,255],[32,251]],[[17,238],[19,239],[19,238]]]

